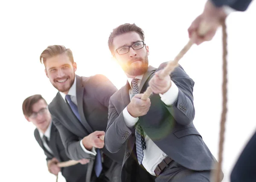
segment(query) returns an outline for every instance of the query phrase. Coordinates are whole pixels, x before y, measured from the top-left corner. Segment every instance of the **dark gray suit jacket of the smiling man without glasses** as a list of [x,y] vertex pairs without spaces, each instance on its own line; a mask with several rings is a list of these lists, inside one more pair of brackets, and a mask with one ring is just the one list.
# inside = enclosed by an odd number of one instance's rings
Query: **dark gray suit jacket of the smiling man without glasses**
[[[116,91],[116,87],[104,75],[90,77],[76,75],[76,98],[81,122],[73,114],[59,92],[53,98],[49,104],[49,111],[70,159],[85,158],[92,159],[93,162],[95,156],[82,150],[80,140],[96,130],[106,130],[109,98]],[[113,161],[122,164],[125,150],[113,154],[103,147],[101,151],[105,156],[104,165],[106,168],[111,168]]]

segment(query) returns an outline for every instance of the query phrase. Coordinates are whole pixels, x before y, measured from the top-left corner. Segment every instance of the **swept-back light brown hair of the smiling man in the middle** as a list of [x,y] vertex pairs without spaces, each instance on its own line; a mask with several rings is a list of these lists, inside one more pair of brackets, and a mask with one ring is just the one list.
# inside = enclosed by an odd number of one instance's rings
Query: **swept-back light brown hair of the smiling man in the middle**
[[70,49],[67,49],[65,46],[60,46],[60,45],[53,45],[53,46],[48,46],[40,55],[40,62],[45,63],[47,58],[52,58],[56,55],[61,55],[63,53],[67,53],[67,56],[70,58],[70,61],[73,63],[74,58],[73,58],[73,53]]

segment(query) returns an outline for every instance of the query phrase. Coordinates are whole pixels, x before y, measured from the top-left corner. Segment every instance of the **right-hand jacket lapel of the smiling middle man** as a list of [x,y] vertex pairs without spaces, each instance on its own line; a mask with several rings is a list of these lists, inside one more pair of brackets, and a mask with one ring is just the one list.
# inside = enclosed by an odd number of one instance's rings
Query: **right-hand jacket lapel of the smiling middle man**
[[81,118],[81,123],[84,125],[84,127],[89,133],[93,133],[92,127],[90,127],[89,123],[86,121],[86,118],[84,116],[83,96],[84,96],[84,87],[82,83],[82,78],[76,75],[76,100],[77,100],[79,115]]

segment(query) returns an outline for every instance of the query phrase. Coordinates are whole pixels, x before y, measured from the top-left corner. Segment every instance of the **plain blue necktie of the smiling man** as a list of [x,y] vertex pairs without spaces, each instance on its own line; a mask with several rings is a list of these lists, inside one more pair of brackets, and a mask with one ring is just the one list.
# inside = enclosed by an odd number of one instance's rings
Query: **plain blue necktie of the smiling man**
[[[65,98],[66,98],[68,104],[70,105],[71,110],[73,111],[75,116],[78,118],[78,120],[81,122],[81,118],[80,118],[79,111],[78,111],[76,104],[73,103],[73,101],[70,98],[70,95],[66,95]],[[99,175],[102,171],[102,160],[101,160],[101,153],[98,148],[96,149],[96,153],[97,154],[95,156],[94,170],[95,170],[96,176],[99,177]]]

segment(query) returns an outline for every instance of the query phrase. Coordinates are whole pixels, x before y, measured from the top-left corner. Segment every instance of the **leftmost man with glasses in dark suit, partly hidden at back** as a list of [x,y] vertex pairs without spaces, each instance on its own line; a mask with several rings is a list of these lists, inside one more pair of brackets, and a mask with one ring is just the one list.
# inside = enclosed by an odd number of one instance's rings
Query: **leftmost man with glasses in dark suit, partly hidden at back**
[[50,173],[57,175],[60,171],[67,182],[85,182],[88,159],[81,159],[81,164],[59,168],[58,162],[69,161],[61,142],[57,128],[52,124],[47,102],[41,95],[32,95],[22,104],[23,114],[27,121],[35,126],[35,139],[44,150],[47,167]]

